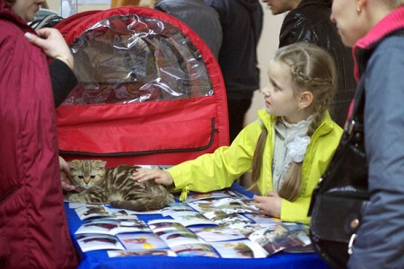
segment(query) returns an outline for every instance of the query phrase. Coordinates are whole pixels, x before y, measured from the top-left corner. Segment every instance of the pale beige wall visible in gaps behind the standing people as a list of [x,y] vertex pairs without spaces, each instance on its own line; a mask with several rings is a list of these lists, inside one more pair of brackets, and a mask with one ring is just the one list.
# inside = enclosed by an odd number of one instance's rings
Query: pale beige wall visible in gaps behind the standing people
[[[59,0],[48,0],[49,8],[57,11],[59,9]],[[142,0],[141,4],[148,4],[148,0]],[[268,75],[267,69],[269,60],[274,55],[275,50],[279,44],[279,30],[281,23],[283,21],[283,15],[273,16],[272,13],[266,8],[264,4],[262,4],[264,8],[264,29],[262,31],[261,39],[259,39],[259,69],[261,70],[261,82],[260,87],[262,88],[264,85],[268,83]],[[88,10],[104,10],[110,8],[109,5],[105,4],[79,4],[78,11],[88,11]],[[246,124],[257,119],[257,110],[259,108],[263,108],[264,101],[262,95],[259,91],[255,91],[254,97],[252,100],[251,108],[246,116]]]

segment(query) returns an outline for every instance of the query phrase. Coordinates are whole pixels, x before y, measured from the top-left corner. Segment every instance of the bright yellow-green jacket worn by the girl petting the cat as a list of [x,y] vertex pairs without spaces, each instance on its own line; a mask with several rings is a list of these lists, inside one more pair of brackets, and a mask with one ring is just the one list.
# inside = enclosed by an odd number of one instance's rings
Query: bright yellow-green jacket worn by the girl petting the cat
[[[259,110],[259,119],[234,139],[230,146],[222,146],[210,154],[204,154],[192,161],[185,161],[168,169],[174,179],[174,191],[182,191],[184,200],[189,191],[209,192],[231,187],[233,181],[251,169],[259,134],[264,125],[268,138],[264,148],[263,163],[258,179],[260,195],[272,191],[272,156],[275,141],[274,124],[277,117],[271,116],[265,109]],[[308,224],[307,211],[312,198],[312,191],[319,178],[329,165],[337,149],[342,129],[334,123],[327,112],[321,125],[312,134],[302,166],[302,188],[294,202],[282,199],[281,220],[303,222]]]

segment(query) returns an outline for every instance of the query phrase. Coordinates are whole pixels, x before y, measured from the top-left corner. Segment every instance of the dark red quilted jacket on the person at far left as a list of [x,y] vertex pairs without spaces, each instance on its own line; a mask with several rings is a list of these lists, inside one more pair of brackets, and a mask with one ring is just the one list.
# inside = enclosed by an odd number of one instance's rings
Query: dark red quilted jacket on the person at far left
[[0,0],[0,268],[74,268],[48,61]]

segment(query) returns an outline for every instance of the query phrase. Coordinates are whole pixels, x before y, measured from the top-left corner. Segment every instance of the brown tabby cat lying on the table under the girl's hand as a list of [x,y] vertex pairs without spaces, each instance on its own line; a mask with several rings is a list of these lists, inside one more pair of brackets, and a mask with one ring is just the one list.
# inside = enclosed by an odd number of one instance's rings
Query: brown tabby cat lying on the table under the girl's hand
[[167,188],[153,180],[139,183],[130,179],[138,166],[106,169],[106,161],[101,160],[73,160],[68,164],[72,182],[81,190],[66,195],[68,201],[104,203],[134,211],[161,209],[173,201]]

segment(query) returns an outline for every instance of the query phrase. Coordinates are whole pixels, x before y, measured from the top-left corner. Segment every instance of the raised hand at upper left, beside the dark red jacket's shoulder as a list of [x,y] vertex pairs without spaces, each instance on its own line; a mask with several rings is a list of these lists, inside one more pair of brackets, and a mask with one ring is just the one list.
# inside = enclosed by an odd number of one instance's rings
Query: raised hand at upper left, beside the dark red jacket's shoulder
[[24,36],[32,44],[42,48],[47,56],[57,58],[73,69],[73,55],[62,34],[57,29],[42,28],[37,30],[37,34],[38,36],[26,32]]

